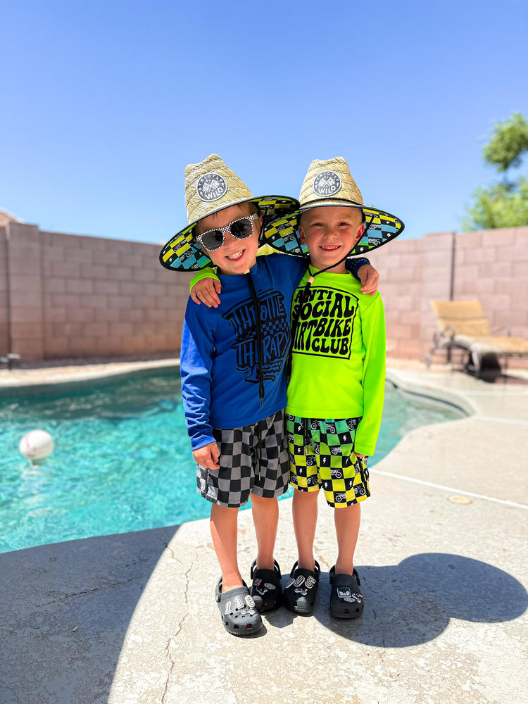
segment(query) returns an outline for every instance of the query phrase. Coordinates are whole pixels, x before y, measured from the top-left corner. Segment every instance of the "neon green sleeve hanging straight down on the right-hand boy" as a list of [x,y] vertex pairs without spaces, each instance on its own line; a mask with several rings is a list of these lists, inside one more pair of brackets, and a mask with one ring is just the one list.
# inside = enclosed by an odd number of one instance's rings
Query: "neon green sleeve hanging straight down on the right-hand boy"
[[361,455],[372,455],[382,422],[385,395],[385,313],[382,297],[365,296],[360,307],[363,358],[363,419],[356,432],[355,447]]

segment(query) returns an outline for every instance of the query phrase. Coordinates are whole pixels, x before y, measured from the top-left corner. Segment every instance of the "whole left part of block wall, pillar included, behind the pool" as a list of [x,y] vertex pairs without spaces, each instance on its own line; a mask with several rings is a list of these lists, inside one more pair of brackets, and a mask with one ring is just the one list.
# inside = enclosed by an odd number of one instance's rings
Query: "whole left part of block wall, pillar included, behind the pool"
[[[26,361],[178,353],[190,275],[161,268],[160,246],[19,223],[8,232],[11,351]],[[0,284],[0,334],[1,296]]]

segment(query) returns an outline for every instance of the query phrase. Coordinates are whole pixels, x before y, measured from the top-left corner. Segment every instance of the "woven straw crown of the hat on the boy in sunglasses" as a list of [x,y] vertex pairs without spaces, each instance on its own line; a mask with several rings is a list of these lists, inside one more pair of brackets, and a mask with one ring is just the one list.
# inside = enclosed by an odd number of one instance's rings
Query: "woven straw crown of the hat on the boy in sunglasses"
[[185,168],[185,203],[189,223],[253,198],[249,188],[218,154]]

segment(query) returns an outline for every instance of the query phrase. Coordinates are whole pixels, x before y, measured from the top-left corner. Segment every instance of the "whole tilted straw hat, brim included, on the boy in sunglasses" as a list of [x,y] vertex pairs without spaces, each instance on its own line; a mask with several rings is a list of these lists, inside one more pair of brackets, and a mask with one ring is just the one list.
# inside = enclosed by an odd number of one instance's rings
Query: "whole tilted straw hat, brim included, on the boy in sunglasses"
[[185,201],[189,225],[171,237],[160,254],[161,265],[172,271],[194,271],[212,264],[194,239],[194,226],[202,218],[239,203],[255,203],[265,226],[296,210],[299,205],[296,199],[288,196],[253,196],[217,154],[211,154],[199,164],[187,166]]

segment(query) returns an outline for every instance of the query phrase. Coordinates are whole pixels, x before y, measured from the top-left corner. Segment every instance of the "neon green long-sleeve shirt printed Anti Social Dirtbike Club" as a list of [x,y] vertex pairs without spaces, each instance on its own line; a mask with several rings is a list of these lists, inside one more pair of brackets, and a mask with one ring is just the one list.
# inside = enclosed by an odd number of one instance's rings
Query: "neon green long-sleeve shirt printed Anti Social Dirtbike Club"
[[287,413],[305,418],[361,416],[356,452],[372,455],[385,389],[385,316],[377,293],[348,274],[322,273],[298,310],[308,272],[294,294],[298,315]]

